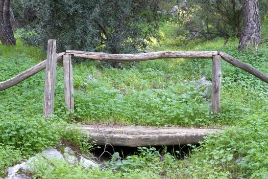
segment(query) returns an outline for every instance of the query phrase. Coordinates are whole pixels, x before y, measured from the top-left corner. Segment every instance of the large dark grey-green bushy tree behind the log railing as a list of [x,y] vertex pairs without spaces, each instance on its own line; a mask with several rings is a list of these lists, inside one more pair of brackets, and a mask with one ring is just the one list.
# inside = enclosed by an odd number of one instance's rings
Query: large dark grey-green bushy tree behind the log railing
[[47,39],[56,39],[58,51],[141,52],[158,32],[157,2],[38,0],[39,23],[31,29],[38,39],[32,41],[45,47]]

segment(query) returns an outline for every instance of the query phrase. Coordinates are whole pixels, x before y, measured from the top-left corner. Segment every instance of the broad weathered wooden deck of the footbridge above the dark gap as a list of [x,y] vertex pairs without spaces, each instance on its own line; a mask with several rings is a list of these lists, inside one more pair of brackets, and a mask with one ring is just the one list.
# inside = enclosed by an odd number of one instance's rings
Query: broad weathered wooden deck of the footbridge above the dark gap
[[76,126],[83,133],[97,140],[96,144],[114,146],[162,146],[197,144],[204,137],[221,129],[145,127],[145,126]]

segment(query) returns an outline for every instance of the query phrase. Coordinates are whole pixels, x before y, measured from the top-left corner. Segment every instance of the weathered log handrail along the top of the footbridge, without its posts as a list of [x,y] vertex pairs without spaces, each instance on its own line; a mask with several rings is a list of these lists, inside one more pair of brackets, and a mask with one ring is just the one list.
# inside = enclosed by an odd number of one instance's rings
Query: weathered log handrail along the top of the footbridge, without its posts
[[[83,52],[83,51],[73,51],[67,50],[66,53],[62,52],[57,55],[57,61],[62,60],[62,56],[64,54],[72,55],[74,58],[85,58],[91,60],[99,60],[99,61],[116,61],[116,62],[126,62],[126,61],[145,61],[145,60],[153,60],[153,59],[161,59],[161,58],[212,58],[213,55],[221,55],[222,58],[231,63],[232,65],[249,72],[250,74],[256,76],[268,83],[268,76],[259,72],[258,70],[252,68],[247,63],[239,61],[228,55],[224,52],[217,51],[200,51],[200,52],[172,52],[172,51],[164,51],[164,52],[152,52],[152,53],[141,53],[141,54],[106,54],[106,53],[97,53],[97,52]],[[35,75],[41,70],[45,69],[46,60],[36,64],[32,68],[28,69],[21,74],[8,79],[6,81],[0,82],[0,91],[3,91],[9,87],[12,87],[23,80]]]

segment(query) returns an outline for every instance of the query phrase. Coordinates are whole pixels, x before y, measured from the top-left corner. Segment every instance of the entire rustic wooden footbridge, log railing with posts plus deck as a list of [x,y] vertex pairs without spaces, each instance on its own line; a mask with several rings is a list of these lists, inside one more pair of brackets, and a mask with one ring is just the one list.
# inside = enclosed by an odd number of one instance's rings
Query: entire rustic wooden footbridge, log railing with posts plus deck
[[[46,69],[43,115],[49,117],[53,114],[54,90],[57,62],[63,60],[64,66],[64,94],[67,110],[75,109],[74,83],[72,76],[71,58],[83,58],[98,61],[145,61],[164,58],[210,58],[212,59],[212,99],[211,109],[213,114],[220,110],[221,99],[221,59],[228,63],[245,70],[262,81],[268,83],[268,76],[254,69],[247,63],[224,52],[218,51],[185,51],[185,52],[152,52],[141,54],[106,54],[96,52],[83,52],[67,50],[66,52],[56,53],[56,40],[48,40],[46,60],[36,64],[32,68],[20,73],[19,75],[0,82],[0,91],[12,87],[23,80],[35,75],[41,70]],[[198,129],[198,128],[178,128],[178,127],[144,127],[144,126],[89,126],[78,125],[86,135],[98,140],[97,144],[121,146],[161,146],[161,145],[183,145],[196,144],[204,139],[204,136],[215,133],[219,129]]]

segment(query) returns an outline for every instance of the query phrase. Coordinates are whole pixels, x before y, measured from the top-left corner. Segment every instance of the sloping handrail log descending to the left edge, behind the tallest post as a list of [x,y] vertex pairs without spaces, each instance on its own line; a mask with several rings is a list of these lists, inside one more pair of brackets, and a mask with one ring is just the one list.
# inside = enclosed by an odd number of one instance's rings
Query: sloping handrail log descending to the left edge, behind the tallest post
[[[62,60],[62,56],[65,54],[65,52],[59,53],[57,54],[57,61],[61,61]],[[45,65],[46,65],[46,59],[36,65],[34,65],[32,68],[26,70],[25,72],[22,72],[21,74],[8,79],[6,81],[0,82],[0,91],[3,91],[9,87],[12,87],[18,83],[20,83],[23,80],[26,80],[27,78],[35,75],[36,73],[42,71],[45,69]]]

